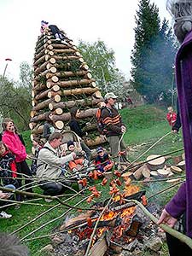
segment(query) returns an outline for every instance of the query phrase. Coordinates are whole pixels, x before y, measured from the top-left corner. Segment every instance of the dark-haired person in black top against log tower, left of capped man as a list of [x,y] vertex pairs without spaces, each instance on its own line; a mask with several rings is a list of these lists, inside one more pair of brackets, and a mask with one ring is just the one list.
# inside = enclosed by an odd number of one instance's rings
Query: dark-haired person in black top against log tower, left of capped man
[[[90,148],[87,147],[87,145],[84,143],[83,137],[86,136],[86,132],[82,131],[81,126],[79,125],[79,115],[80,115],[80,110],[79,108],[71,108],[70,109],[71,113],[71,119],[69,121],[69,127],[72,131],[74,131],[79,137],[80,137],[80,144],[81,148],[84,150],[86,154],[87,160],[90,161]],[[85,126],[85,125],[84,125]],[[82,125],[83,128],[83,125]]]

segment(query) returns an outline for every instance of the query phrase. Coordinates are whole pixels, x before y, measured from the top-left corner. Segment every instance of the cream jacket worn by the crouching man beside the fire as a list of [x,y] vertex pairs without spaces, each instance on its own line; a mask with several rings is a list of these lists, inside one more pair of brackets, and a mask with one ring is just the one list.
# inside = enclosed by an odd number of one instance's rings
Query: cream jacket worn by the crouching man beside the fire
[[59,157],[58,151],[49,143],[45,143],[38,154],[36,176],[42,181],[58,178],[61,175],[61,166],[71,160],[74,160],[73,154]]

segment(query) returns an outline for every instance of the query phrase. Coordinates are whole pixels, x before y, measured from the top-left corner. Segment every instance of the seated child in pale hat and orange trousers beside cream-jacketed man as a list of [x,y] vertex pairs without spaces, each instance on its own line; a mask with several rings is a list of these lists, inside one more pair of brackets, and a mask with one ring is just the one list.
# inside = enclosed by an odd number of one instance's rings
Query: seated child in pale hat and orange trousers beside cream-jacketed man
[[72,172],[77,172],[79,170],[81,170],[84,167],[88,167],[89,166],[89,160],[84,159],[84,151],[77,151],[78,149],[75,147],[75,144],[73,143],[73,141],[68,141],[67,143],[67,154],[72,153],[72,152],[78,152],[79,155],[77,155],[77,158],[69,161],[68,162],[68,166],[70,168],[70,170]]

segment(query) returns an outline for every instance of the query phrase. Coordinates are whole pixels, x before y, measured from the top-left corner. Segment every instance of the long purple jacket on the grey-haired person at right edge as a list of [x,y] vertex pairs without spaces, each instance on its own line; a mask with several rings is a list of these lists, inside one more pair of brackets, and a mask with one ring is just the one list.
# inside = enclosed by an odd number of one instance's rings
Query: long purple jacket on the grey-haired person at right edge
[[172,217],[187,215],[187,235],[192,237],[192,31],[187,34],[176,57],[178,102],[183,127],[186,183],[166,206]]

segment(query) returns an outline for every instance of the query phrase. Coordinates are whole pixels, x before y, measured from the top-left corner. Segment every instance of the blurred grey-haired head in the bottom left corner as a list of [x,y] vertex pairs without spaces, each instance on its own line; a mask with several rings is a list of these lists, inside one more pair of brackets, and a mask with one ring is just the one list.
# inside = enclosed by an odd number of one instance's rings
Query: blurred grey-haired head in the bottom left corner
[[0,256],[29,256],[29,250],[15,235],[0,233]]

